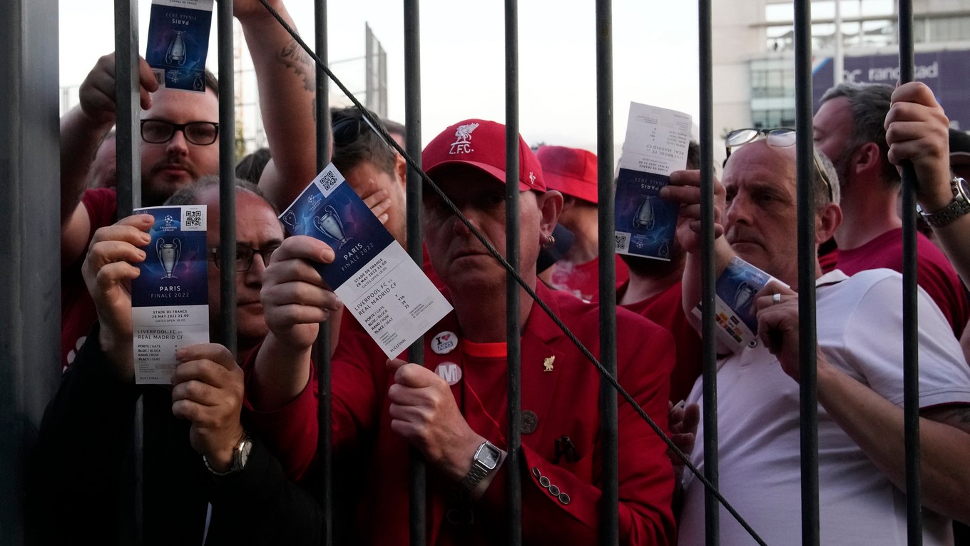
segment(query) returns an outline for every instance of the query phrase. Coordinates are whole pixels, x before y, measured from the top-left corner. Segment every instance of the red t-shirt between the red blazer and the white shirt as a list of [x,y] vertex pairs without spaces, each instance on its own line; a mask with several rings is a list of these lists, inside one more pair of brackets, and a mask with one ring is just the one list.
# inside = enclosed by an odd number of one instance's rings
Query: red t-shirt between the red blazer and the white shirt
[[[628,281],[616,291],[617,301],[623,299],[629,287]],[[687,395],[694,388],[695,381],[700,377],[702,358],[700,335],[688,322],[687,315],[684,314],[684,306],[681,305],[682,291],[681,282],[677,281],[659,294],[620,306],[660,324],[673,334],[673,341],[677,348],[677,361],[670,374],[670,401],[675,404],[687,399]]]

